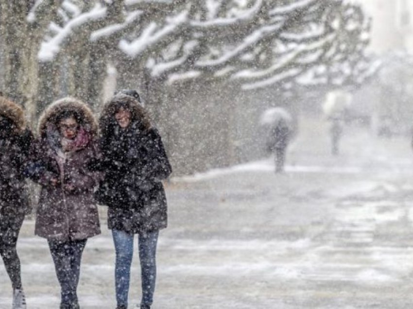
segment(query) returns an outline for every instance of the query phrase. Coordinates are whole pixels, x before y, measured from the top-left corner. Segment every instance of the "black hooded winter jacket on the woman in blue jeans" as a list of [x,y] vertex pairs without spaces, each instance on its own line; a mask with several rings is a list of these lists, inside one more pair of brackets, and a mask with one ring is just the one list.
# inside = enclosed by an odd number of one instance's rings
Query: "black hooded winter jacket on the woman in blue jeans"
[[128,233],[165,228],[167,201],[161,180],[172,168],[161,137],[136,100],[117,97],[128,103],[132,121],[120,128],[115,120],[119,106],[114,100],[106,104],[100,118],[105,174],[98,195],[109,206],[108,227]]

